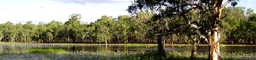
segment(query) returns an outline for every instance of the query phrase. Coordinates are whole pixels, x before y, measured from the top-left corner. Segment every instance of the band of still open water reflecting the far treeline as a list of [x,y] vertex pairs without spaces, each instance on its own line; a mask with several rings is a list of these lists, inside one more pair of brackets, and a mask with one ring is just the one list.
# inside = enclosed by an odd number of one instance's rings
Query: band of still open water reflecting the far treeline
[[[44,44],[0,44],[0,50],[21,50],[26,51],[31,48],[62,48],[68,51],[149,51],[157,50],[157,46],[71,46],[71,45],[44,45]],[[191,46],[177,47],[177,46],[165,46],[167,51],[186,51],[190,52],[192,50]],[[256,52],[255,46],[229,46],[220,47],[220,51],[223,52]],[[208,47],[201,46],[198,52],[208,52]]]

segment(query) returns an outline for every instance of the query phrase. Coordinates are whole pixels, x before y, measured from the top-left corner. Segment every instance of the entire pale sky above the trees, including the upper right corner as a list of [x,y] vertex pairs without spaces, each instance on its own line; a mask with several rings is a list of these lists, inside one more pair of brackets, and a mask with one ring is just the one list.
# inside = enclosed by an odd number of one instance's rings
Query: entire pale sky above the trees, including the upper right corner
[[[256,0],[240,0],[236,7],[251,8],[256,12],[254,3]],[[102,15],[114,18],[129,15],[125,10],[130,4],[130,0],[0,0],[0,24],[32,21],[37,25],[53,20],[64,23],[72,13],[81,14],[81,21],[90,23]],[[228,6],[231,6],[230,3]]]

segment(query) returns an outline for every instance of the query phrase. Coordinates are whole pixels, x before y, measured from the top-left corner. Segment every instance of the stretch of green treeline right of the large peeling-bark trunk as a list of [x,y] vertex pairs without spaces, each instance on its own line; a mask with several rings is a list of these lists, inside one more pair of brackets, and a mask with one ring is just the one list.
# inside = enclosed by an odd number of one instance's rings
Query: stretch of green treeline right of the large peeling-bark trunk
[[[228,7],[224,9],[227,17],[221,20],[221,43],[255,44],[256,14],[245,7]],[[225,15],[223,11],[222,15]]]

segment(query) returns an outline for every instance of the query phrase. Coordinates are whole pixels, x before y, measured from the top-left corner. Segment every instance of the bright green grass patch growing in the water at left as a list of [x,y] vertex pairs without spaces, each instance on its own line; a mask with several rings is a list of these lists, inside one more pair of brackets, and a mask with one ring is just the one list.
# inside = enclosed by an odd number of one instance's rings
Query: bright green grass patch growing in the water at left
[[53,49],[53,48],[49,48],[49,49],[42,49],[42,48],[33,48],[33,49],[29,49],[28,53],[66,53],[66,51],[64,49]]

